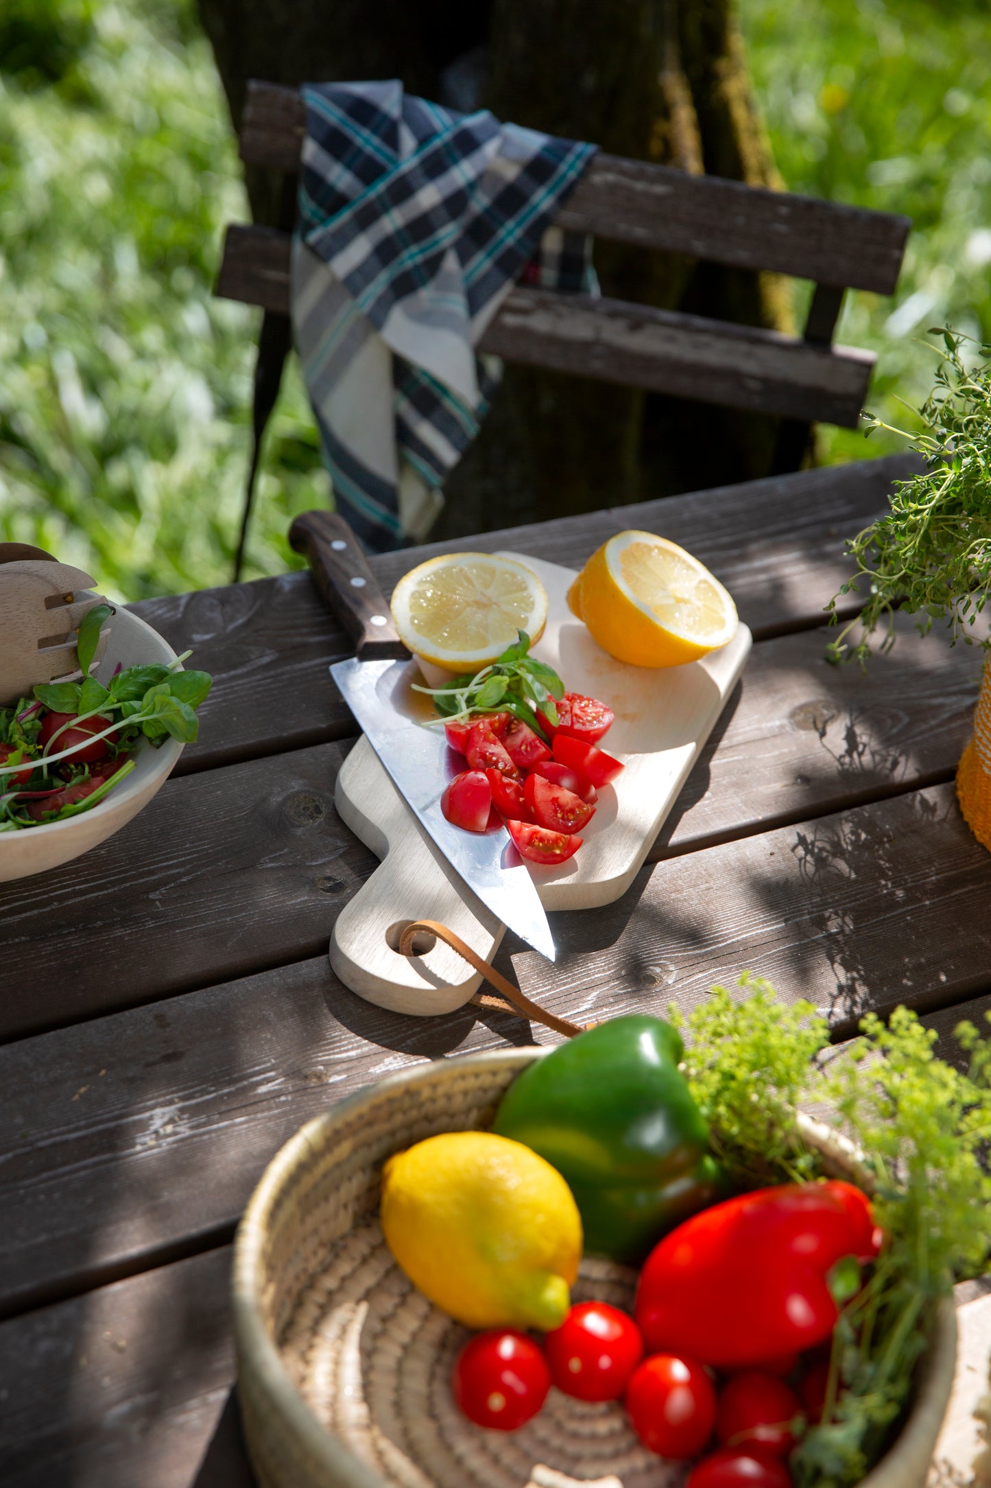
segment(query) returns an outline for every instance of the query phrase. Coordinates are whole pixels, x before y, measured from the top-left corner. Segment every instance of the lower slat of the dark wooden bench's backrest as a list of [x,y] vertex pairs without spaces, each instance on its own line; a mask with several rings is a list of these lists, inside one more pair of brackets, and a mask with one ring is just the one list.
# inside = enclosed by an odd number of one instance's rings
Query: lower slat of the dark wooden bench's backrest
[[[290,235],[230,226],[217,293],[288,310]],[[856,429],[875,356],[587,295],[514,289],[478,345],[532,366]]]

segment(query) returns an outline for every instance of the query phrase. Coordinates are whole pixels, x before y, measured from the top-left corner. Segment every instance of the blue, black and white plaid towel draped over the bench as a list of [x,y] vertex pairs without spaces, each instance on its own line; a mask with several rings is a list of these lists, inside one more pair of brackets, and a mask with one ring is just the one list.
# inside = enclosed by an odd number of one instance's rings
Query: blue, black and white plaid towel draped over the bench
[[455,113],[400,82],[303,89],[296,347],[337,509],[374,549],[422,540],[499,381],[474,347],[514,280],[597,293],[550,223],[594,146]]

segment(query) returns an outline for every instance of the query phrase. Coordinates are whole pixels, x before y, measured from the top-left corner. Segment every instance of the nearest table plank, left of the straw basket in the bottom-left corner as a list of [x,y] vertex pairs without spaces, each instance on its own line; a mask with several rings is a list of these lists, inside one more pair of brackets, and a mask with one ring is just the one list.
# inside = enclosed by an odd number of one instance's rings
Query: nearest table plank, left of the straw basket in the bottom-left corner
[[229,1272],[215,1250],[3,1324],[4,1488],[198,1488],[235,1375]]

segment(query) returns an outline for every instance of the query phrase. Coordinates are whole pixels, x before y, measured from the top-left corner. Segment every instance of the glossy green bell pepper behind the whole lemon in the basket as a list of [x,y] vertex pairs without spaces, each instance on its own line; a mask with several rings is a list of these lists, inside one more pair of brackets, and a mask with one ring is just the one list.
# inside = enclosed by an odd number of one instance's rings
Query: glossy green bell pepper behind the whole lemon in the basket
[[682,1054],[661,1018],[614,1018],[536,1059],[502,1097],[492,1129],[557,1168],[588,1251],[642,1260],[722,1193]]

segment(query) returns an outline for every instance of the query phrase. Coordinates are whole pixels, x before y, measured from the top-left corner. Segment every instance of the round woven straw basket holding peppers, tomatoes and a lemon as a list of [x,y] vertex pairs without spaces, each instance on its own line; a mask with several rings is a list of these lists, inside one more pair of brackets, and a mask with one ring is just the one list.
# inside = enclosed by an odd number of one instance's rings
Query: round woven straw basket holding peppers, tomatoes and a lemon
[[[468,1332],[406,1280],[377,1223],[383,1161],[441,1131],[484,1128],[541,1049],[441,1059],[352,1095],[303,1126],[245,1211],[233,1321],[245,1436],[261,1488],[680,1488],[686,1467],[645,1451],[615,1403],[551,1390],[514,1433],[471,1426],[450,1391]],[[828,1165],[850,1170],[826,1128]],[[575,1299],[633,1302],[634,1274],[585,1259]],[[914,1411],[869,1488],[921,1488],[957,1347],[943,1306]]]

